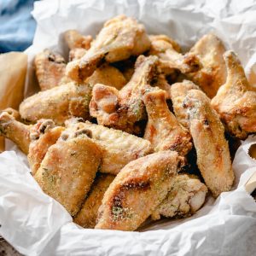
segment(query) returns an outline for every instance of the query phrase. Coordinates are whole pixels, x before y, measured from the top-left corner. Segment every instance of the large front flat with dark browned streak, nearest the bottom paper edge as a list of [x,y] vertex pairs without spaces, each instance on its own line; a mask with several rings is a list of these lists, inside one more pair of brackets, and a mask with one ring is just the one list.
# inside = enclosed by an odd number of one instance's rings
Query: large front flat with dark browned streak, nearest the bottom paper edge
[[183,157],[170,150],[131,161],[106,191],[96,229],[137,230],[166,198],[181,165]]

